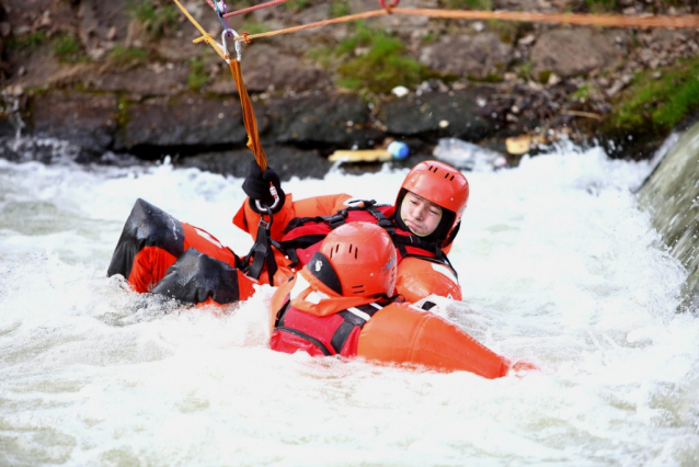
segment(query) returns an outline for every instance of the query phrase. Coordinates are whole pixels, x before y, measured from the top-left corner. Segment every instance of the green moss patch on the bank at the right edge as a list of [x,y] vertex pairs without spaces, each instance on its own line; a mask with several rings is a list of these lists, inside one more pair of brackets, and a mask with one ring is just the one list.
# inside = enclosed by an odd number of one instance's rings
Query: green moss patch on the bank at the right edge
[[672,129],[690,112],[699,109],[698,76],[697,57],[673,67],[637,75],[612,107],[609,124],[622,130],[664,133]]

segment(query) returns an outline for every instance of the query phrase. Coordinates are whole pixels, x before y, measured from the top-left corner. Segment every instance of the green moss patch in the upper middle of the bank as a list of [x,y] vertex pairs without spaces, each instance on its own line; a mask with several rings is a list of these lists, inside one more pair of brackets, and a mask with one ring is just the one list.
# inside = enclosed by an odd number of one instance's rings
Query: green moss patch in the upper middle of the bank
[[389,92],[397,86],[419,83],[427,68],[403,55],[403,43],[383,31],[371,30],[364,22],[355,24],[353,37],[344,39],[337,53],[354,53],[366,47],[366,54],[352,58],[337,68],[337,84],[347,89],[366,88],[371,92]]

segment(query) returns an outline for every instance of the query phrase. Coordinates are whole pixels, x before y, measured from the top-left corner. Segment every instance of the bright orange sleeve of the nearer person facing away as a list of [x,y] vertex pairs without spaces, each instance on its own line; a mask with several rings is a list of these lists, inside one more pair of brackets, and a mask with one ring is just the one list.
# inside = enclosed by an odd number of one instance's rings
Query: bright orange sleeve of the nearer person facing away
[[440,372],[471,372],[491,379],[509,371],[506,358],[438,316],[408,304],[391,304],[367,321],[357,355]]

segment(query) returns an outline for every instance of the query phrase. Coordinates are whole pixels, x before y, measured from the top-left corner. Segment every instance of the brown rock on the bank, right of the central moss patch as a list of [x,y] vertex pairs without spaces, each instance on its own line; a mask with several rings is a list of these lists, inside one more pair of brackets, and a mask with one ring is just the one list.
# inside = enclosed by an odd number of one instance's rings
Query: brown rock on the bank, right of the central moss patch
[[420,56],[420,61],[432,69],[478,79],[501,76],[512,59],[512,45],[501,42],[494,33],[445,36],[425,47]]

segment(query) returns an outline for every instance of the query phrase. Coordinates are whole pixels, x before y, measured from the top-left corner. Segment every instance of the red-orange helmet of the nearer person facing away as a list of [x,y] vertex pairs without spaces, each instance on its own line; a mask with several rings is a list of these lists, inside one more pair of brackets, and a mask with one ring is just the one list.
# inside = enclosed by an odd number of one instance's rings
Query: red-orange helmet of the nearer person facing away
[[[334,274],[317,265],[314,258],[319,253],[332,265]],[[342,225],[325,237],[319,253],[306,267],[339,294],[345,297],[393,295],[396,247],[381,227],[369,223]]]

